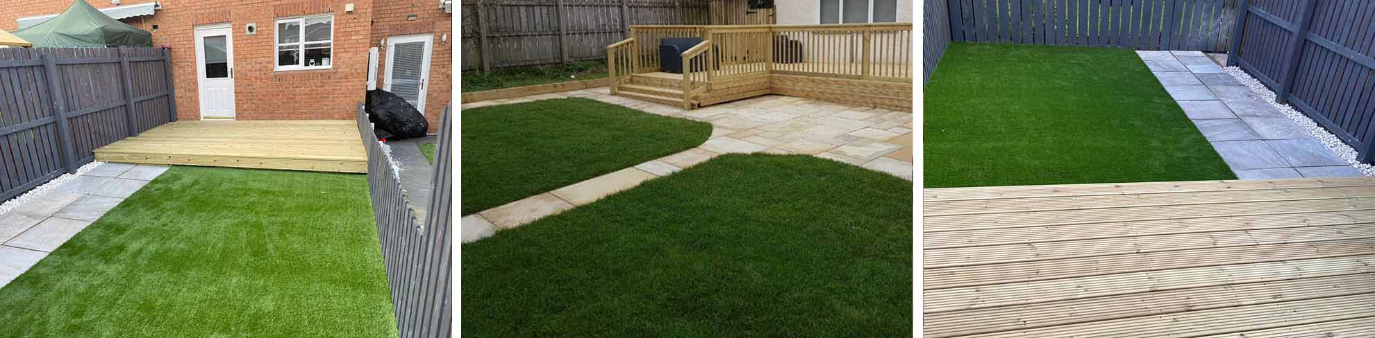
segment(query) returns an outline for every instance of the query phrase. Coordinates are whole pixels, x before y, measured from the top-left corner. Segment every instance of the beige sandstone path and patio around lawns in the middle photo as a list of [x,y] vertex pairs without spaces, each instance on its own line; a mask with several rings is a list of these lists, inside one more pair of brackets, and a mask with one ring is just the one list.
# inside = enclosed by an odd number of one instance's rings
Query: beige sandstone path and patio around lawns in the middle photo
[[568,187],[463,216],[463,242],[595,202],[720,154],[806,154],[906,180],[913,177],[912,113],[767,95],[696,110],[612,96],[608,88],[465,103],[463,109],[587,98],[645,113],[710,122],[711,136],[694,148],[593,177]]

